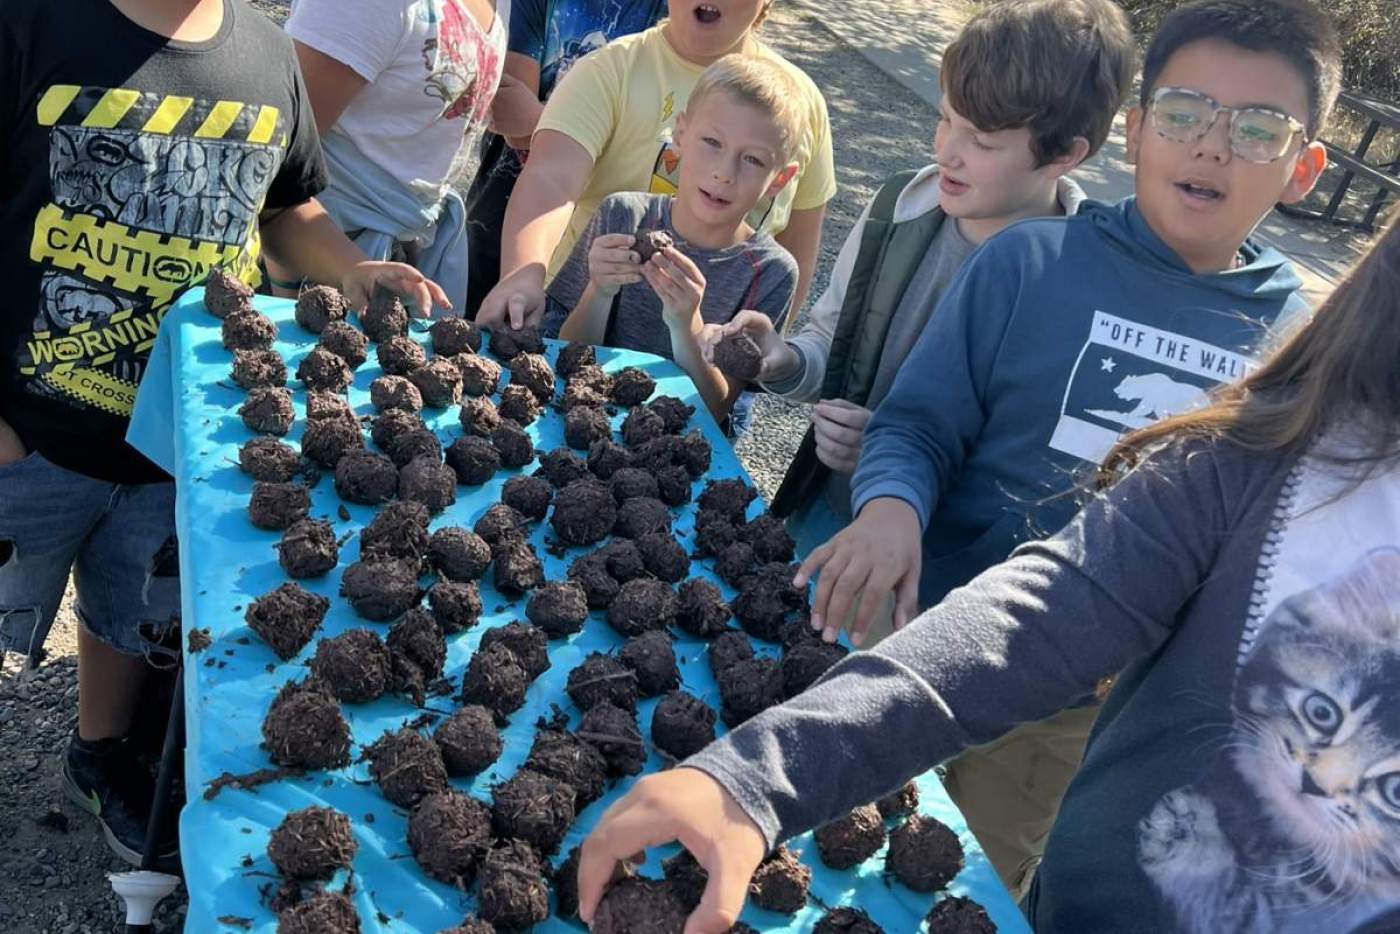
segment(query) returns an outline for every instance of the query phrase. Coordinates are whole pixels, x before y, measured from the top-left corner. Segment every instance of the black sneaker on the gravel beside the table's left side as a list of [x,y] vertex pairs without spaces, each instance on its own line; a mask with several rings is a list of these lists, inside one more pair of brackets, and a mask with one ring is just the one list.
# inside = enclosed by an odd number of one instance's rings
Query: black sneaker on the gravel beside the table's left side
[[[126,739],[87,741],[74,732],[63,756],[63,790],[73,804],[98,819],[113,853],[132,865],[141,864],[155,781]],[[157,849],[160,858],[178,850],[175,823],[171,815]]]

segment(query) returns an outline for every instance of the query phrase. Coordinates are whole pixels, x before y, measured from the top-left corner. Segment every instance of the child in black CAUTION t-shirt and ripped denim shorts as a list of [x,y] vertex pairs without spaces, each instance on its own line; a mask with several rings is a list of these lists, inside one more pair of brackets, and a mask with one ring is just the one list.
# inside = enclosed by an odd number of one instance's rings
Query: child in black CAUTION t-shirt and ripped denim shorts
[[445,297],[412,267],[364,262],[321,210],[291,43],[251,7],[84,0],[74,17],[14,0],[0,74],[0,651],[38,662],[71,570],[64,787],[134,863],[153,786],[125,742],[150,651],[139,630],[179,618],[175,489],[125,441],[160,319],[211,265],[255,280],[259,244],[356,307],[377,286],[421,312]]

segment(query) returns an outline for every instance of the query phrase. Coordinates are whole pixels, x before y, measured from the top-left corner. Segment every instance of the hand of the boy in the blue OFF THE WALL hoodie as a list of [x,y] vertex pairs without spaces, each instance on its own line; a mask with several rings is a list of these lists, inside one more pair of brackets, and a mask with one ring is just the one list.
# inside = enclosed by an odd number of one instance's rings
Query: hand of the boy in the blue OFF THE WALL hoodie
[[860,646],[890,591],[895,592],[895,629],[917,613],[921,562],[918,514],[909,503],[883,496],[867,503],[854,522],[812,552],[792,583],[806,587],[820,571],[812,601],[812,629],[822,630],[826,641],[834,641],[847,613],[855,608],[851,643]]

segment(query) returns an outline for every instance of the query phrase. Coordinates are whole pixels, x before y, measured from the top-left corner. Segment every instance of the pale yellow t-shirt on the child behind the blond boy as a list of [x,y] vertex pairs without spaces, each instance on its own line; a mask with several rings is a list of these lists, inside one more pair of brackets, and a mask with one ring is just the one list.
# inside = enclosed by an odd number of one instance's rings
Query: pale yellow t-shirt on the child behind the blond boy
[[[676,113],[704,67],[686,62],[662,35],[664,27],[613,39],[568,70],[545,105],[539,130],[557,130],[588,150],[594,171],[568,220],[568,230],[549,263],[549,277],[568,259],[588,218],[609,195],[676,190],[679,155],[671,143]],[[836,195],[832,130],[826,101],[812,78],[759,43],[756,55],[773,59],[797,81],[808,101],[806,134],[797,153],[798,175],[774,203],[763,199],[749,220],[778,234],[792,210],[820,207]]]

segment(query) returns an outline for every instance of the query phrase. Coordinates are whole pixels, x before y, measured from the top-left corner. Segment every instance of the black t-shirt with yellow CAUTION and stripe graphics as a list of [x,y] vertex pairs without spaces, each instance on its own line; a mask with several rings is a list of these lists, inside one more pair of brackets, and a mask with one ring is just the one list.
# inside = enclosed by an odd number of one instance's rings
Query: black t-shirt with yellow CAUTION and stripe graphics
[[0,21],[0,417],[67,469],[165,475],[125,442],[161,318],[210,266],[252,281],[258,216],[325,185],[290,41],[239,0],[174,42],[108,0]]

